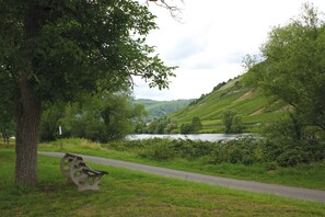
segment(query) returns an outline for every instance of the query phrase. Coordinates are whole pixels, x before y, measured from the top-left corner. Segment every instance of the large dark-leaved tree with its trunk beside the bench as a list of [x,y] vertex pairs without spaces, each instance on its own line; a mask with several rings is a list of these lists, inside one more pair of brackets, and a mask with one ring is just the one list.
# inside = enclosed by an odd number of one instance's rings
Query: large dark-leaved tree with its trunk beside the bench
[[[2,0],[1,95],[14,102],[15,181],[37,182],[36,149],[42,104],[119,90],[140,76],[166,88],[167,67],[146,44],[156,28],[148,7],[132,0]],[[2,99],[2,98],[1,98]]]

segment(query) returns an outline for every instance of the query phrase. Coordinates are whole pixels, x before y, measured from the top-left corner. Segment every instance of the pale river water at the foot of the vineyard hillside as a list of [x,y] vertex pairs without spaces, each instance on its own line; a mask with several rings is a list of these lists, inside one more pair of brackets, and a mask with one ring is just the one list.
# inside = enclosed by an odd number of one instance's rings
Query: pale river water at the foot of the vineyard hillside
[[134,134],[127,136],[129,140],[137,139],[150,139],[150,138],[167,138],[167,139],[190,139],[190,140],[205,140],[205,141],[218,141],[218,140],[231,140],[239,137],[248,136],[252,134]]

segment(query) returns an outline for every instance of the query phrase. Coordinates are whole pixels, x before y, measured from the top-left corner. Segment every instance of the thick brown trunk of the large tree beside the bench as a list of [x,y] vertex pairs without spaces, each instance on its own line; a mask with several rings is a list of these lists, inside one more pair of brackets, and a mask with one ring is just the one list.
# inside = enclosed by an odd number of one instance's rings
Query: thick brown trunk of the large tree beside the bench
[[21,72],[21,102],[18,107],[16,132],[16,184],[35,185],[37,183],[37,139],[40,123],[42,101],[35,94],[33,80],[28,75],[34,71],[34,38],[40,30],[40,10],[37,0],[28,0],[25,8],[25,56],[30,66]]

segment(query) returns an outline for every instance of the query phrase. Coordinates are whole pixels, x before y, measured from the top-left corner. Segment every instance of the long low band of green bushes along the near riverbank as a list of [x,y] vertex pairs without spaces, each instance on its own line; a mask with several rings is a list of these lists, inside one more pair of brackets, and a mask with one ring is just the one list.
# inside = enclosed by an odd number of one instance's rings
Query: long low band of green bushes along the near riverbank
[[[274,133],[277,134],[276,130]],[[142,158],[152,160],[161,161],[181,158],[187,160],[205,159],[204,164],[233,163],[251,165],[263,163],[267,170],[275,170],[277,167],[297,167],[301,163],[320,162],[325,159],[323,138],[314,138],[314,145],[311,147],[310,142],[304,141],[288,144],[290,139],[275,134],[262,138],[246,136],[235,140],[213,142],[154,138],[116,141],[106,146],[118,151],[131,151]]]

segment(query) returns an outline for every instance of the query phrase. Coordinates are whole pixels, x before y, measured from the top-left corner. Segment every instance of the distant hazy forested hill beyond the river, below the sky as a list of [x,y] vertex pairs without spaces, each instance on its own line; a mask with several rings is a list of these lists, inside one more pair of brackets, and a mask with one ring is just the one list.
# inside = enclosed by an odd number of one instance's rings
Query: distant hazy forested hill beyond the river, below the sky
[[160,118],[183,107],[186,107],[194,100],[154,101],[148,99],[136,100],[135,103],[142,104],[148,111],[148,119]]

